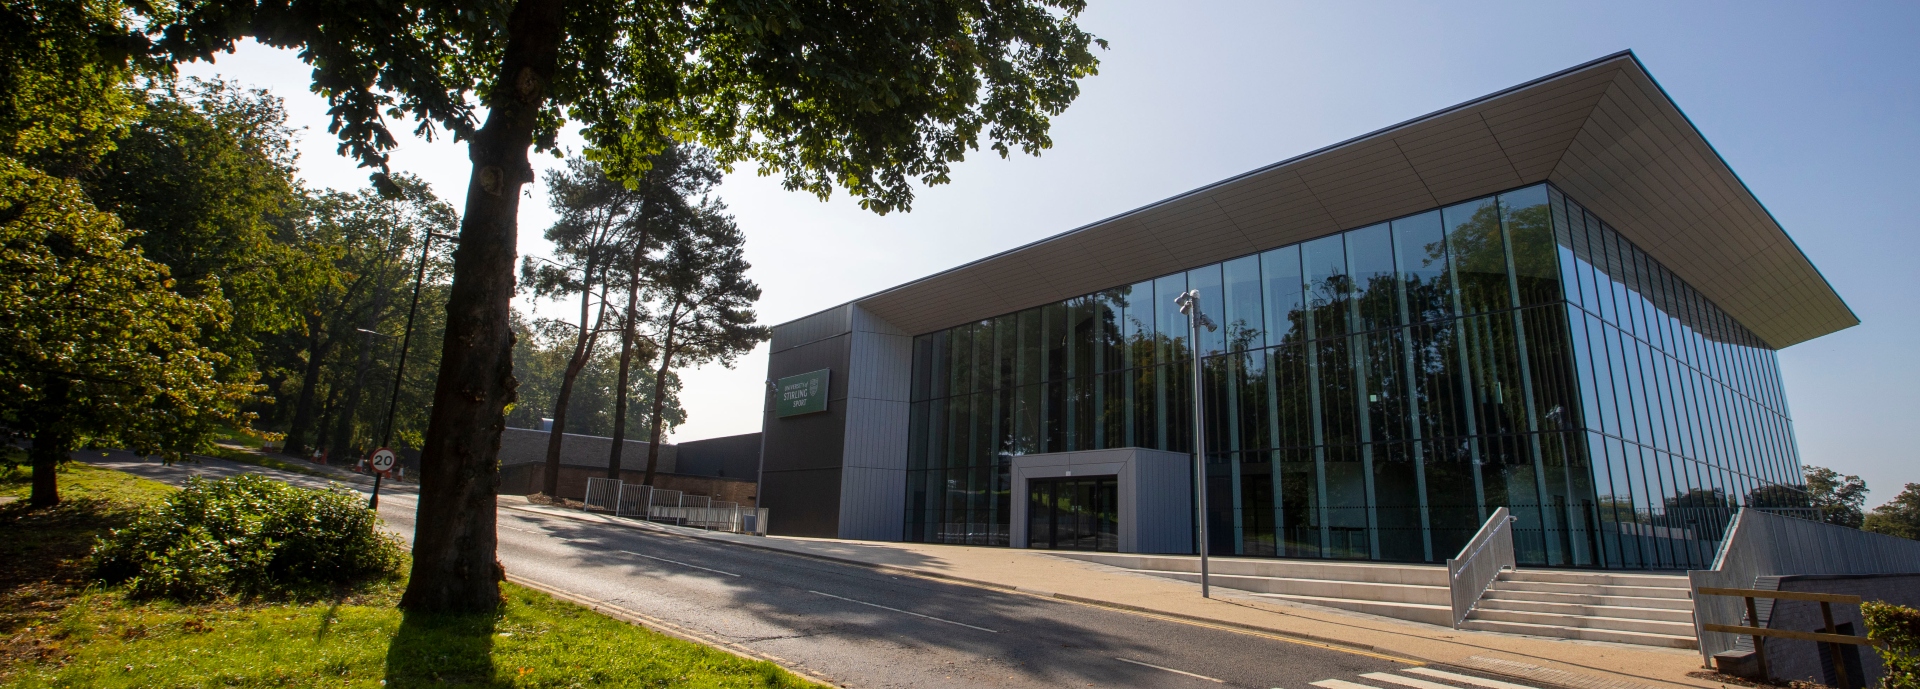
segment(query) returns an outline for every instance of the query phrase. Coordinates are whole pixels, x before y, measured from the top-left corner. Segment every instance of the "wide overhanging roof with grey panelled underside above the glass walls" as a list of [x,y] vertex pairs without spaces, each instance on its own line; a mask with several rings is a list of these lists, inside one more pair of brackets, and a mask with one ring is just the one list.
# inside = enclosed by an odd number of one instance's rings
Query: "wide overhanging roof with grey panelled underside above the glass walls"
[[1626,52],[856,303],[922,334],[1542,180],[1772,347],[1859,322]]

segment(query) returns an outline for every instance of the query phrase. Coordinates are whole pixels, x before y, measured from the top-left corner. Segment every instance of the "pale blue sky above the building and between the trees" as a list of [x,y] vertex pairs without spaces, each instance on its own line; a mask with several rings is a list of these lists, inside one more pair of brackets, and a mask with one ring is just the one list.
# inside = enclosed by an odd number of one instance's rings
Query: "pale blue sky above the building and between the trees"
[[[764,322],[789,321],[1260,165],[1632,48],[1841,297],[1851,330],[1782,351],[1801,457],[1860,474],[1870,505],[1920,482],[1920,4],[1893,2],[1102,2],[1100,75],[1043,157],[979,154],[912,213],[820,203],[743,169],[722,184],[749,234]],[[248,46],[192,75],[288,98],[303,173],[357,186],[307,67]],[[465,148],[396,155],[459,203]],[[541,161],[551,165],[549,161]],[[538,186],[522,253],[551,219]],[[555,313],[555,305],[532,305]],[[689,376],[676,440],[758,430],[764,351]]]

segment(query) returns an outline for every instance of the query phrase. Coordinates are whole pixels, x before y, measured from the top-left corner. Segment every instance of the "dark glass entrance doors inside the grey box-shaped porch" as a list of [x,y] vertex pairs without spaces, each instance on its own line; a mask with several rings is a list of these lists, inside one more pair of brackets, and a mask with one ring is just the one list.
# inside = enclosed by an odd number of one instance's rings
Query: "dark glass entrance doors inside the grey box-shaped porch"
[[1027,482],[1027,547],[1119,551],[1119,484],[1114,476]]

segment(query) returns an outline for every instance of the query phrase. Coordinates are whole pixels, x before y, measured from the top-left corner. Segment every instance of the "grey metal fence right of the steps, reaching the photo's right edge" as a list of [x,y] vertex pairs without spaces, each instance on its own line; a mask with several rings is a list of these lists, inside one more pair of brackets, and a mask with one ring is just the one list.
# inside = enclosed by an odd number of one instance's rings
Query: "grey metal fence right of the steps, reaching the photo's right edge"
[[[1763,576],[1788,574],[1914,574],[1920,572],[1920,541],[1868,534],[1857,528],[1834,526],[1803,518],[1745,509],[1734,514],[1734,528],[1720,543],[1720,555],[1711,570],[1692,570],[1693,589],[1753,589]],[[1699,654],[1713,664],[1713,654],[1734,651],[1740,637],[1707,631],[1707,626],[1764,626],[1745,620],[1740,599],[1695,595],[1693,630],[1699,635]]]

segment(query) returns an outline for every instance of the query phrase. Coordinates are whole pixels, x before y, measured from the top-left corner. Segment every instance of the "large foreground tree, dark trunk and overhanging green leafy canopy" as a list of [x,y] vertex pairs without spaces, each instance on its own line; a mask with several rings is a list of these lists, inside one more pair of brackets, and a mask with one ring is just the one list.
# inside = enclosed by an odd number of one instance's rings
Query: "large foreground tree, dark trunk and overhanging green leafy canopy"
[[[528,154],[576,123],[584,152],[639,184],[651,154],[697,142],[787,188],[908,209],[985,140],[1050,146],[1050,117],[1096,69],[1081,0],[188,0],[134,4],[148,54],[209,59],[252,36],[298,50],[340,152],[386,175],[392,121],[468,142],[447,336],[422,447],[420,520],[403,605],[492,610],[493,486],[515,401],[511,299]],[[480,117],[480,111],[486,117]]]

